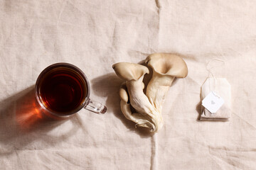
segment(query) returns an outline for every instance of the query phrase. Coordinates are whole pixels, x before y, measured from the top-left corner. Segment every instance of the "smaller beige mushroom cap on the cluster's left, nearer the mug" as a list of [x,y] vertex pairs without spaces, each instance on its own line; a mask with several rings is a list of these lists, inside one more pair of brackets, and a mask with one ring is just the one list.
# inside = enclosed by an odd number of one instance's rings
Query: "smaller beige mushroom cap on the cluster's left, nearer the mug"
[[112,67],[117,76],[125,81],[138,80],[144,74],[149,74],[149,69],[141,64],[118,62]]

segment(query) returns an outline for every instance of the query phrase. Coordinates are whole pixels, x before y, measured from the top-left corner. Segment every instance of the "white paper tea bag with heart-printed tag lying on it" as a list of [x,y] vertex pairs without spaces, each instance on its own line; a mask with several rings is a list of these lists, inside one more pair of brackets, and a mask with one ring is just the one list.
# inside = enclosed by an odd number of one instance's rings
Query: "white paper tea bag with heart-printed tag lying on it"
[[200,120],[227,121],[231,115],[231,87],[225,78],[208,78],[201,86]]

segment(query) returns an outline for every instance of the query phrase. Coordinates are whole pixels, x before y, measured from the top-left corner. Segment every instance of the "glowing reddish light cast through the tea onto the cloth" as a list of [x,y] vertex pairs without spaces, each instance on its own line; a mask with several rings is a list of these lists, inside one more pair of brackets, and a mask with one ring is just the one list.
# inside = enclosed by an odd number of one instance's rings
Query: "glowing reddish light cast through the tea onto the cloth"
[[65,119],[52,115],[41,108],[34,91],[34,88],[31,89],[16,101],[16,123],[19,128],[30,130],[43,123]]

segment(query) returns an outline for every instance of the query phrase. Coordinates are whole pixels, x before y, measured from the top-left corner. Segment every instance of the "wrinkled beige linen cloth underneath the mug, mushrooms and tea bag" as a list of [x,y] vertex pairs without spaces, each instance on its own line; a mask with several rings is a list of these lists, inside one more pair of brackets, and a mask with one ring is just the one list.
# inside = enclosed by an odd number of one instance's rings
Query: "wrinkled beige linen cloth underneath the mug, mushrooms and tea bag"
[[[255,1],[2,0],[0,18],[0,169],[255,169]],[[153,52],[178,53],[188,64],[154,137],[122,115],[122,81],[112,70]],[[225,123],[198,121],[213,58],[225,61],[215,77],[232,86]],[[33,85],[55,62],[85,72],[105,115],[82,110],[43,121]]]

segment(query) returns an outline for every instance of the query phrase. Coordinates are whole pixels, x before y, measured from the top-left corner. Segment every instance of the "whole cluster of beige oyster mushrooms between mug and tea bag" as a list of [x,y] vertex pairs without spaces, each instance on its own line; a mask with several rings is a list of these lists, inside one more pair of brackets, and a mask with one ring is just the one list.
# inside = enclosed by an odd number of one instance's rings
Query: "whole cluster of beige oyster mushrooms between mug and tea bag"
[[125,118],[136,123],[135,127],[159,131],[164,125],[161,115],[162,104],[175,78],[188,74],[186,62],[178,55],[155,53],[146,57],[146,64],[153,69],[153,75],[144,94],[144,75],[148,67],[141,64],[119,62],[113,65],[114,72],[124,80],[119,90],[121,111]]

